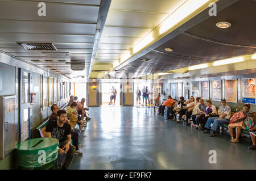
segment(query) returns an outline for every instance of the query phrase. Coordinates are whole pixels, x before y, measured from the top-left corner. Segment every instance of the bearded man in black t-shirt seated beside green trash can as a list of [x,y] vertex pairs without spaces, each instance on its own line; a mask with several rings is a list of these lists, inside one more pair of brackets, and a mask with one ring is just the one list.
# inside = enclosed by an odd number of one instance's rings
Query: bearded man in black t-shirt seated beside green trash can
[[62,167],[63,170],[68,169],[71,165],[76,150],[75,146],[71,144],[71,125],[66,123],[66,120],[67,112],[65,110],[59,110],[57,112],[57,120],[51,121],[46,126],[46,137],[57,138],[59,140],[58,154],[67,154]]

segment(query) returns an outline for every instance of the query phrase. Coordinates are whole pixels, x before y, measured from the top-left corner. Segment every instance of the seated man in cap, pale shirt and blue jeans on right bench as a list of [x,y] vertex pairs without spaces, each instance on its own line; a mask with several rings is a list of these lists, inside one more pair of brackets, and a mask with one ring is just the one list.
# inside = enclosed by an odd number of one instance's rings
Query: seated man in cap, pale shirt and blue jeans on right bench
[[219,117],[209,117],[207,123],[205,124],[205,131],[207,133],[210,131],[210,124],[212,125],[213,133],[210,134],[210,137],[216,136],[216,130],[218,128],[219,123],[229,123],[229,118],[231,115],[231,108],[226,104],[226,99],[221,99],[221,106],[218,108]]

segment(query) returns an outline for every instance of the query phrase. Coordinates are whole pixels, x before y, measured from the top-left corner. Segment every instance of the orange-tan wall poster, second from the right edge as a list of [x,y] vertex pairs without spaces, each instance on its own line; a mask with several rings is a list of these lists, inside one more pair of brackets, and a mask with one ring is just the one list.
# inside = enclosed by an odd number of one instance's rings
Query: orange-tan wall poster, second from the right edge
[[237,102],[237,80],[226,80],[225,81],[225,94],[227,102]]

